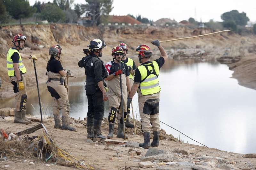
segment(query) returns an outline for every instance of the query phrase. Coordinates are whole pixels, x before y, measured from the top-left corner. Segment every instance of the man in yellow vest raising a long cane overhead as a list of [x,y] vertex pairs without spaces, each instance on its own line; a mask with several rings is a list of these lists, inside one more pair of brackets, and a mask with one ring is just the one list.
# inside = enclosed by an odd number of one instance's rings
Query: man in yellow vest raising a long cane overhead
[[[167,53],[164,51],[164,48],[160,45],[158,40],[152,41],[152,44],[158,47],[162,56],[151,62],[151,48],[147,45],[139,45],[136,51],[141,65],[137,67],[134,72],[134,83],[127,100],[127,105],[129,105],[132,101],[132,97],[138,90],[141,130],[144,137],[144,143],[139,145],[146,149],[150,146],[158,147],[159,145],[159,92],[161,91],[161,88],[159,86],[158,75],[160,68],[164,65],[164,61],[168,58]],[[152,127],[150,123],[152,124]],[[150,129],[152,129],[154,134],[151,143]]]

